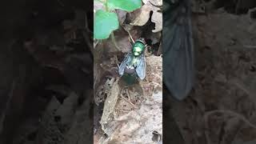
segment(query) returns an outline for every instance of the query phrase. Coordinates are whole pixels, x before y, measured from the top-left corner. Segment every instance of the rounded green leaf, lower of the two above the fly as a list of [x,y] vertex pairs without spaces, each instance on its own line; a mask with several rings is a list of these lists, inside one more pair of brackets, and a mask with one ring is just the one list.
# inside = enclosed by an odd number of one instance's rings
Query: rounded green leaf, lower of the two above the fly
[[97,10],[94,19],[94,38],[106,39],[119,27],[118,14]]

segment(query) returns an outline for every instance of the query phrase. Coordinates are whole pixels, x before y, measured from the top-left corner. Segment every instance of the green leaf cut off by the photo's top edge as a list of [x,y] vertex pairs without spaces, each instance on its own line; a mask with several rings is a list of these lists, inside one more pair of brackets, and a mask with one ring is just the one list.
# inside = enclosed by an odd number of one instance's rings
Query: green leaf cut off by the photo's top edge
[[142,0],[107,0],[106,6],[110,10],[120,9],[131,12],[142,7]]

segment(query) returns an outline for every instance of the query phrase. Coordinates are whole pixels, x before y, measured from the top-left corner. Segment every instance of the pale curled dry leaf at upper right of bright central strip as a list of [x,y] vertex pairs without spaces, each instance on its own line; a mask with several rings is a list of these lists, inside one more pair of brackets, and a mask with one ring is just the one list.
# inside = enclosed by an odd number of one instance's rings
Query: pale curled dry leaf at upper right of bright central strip
[[142,6],[141,9],[135,10],[132,14],[134,14],[134,20],[130,22],[130,25],[134,26],[144,26],[146,22],[150,19],[150,11],[153,11],[151,22],[155,23],[155,30],[152,32],[156,33],[162,30],[162,13],[158,12],[160,8],[153,6],[149,1],[146,2],[145,5]]

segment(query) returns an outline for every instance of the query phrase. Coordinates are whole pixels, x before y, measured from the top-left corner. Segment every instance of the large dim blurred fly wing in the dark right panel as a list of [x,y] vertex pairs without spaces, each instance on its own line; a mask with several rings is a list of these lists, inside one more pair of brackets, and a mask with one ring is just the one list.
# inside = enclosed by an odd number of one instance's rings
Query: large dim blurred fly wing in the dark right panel
[[180,0],[163,14],[163,81],[175,98],[186,98],[194,83],[190,1]]

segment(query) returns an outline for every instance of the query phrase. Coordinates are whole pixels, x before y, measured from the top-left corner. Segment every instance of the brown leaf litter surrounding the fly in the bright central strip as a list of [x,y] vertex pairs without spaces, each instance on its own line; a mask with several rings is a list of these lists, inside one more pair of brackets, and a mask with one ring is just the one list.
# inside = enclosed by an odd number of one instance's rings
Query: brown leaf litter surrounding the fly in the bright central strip
[[[148,13],[158,13],[157,5],[161,4],[155,4],[144,3],[144,7],[130,13],[116,10],[121,26],[114,36],[121,51],[114,49],[110,39],[94,47],[94,110],[98,109],[94,111],[95,143],[162,142],[162,57],[152,50],[161,49],[162,15],[157,19]],[[147,20],[140,26],[131,25],[139,13],[148,13]],[[152,18],[155,22],[150,21]],[[126,87],[119,80],[118,65],[131,50],[129,33],[133,39],[146,38],[153,48],[146,50],[146,78]]]

